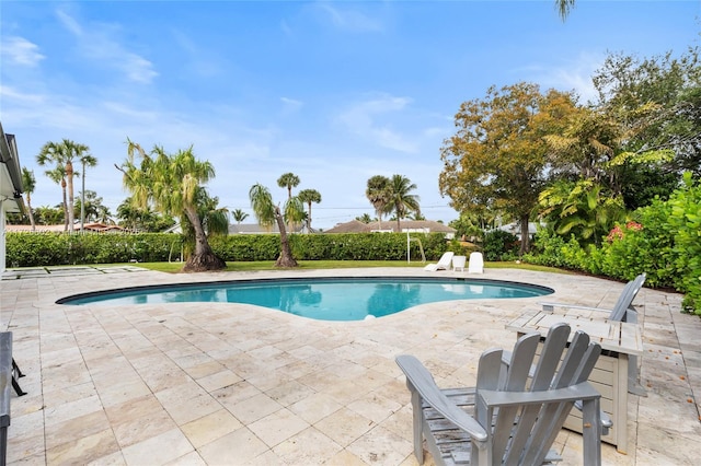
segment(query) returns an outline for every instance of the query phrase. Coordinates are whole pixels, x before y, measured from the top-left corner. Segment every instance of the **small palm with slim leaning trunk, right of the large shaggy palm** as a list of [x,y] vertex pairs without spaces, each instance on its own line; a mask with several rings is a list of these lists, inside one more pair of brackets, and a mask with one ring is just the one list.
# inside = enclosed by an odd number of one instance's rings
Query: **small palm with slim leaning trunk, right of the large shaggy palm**
[[[249,190],[249,199],[251,199],[251,207],[258,223],[263,226],[271,226],[273,223],[277,223],[277,228],[280,231],[280,255],[275,261],[275,267],[297,267],[297,260],[292,257],[292,251],[289,247],[285,219],[280,208],[273,203],[271,191],[265,186],[255,184]],[[299,213],[303,213],[303,208],[300,209],[302,203],[299,199],[290,198],[285,203],[285,212],[297,217]],[[300,212],[292,212],[294,209],[299,209]]]

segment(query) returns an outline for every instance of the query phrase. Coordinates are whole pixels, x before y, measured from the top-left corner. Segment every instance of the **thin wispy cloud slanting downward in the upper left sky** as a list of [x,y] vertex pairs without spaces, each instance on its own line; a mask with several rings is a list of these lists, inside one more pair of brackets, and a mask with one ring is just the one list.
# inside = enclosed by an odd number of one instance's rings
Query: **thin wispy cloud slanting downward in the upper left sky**
[[125,49],[111,36],[115,32],[114,26],[107,24],[81,26],[76,19],[60,10],[56,14],[66,28],[79,39],[80,50],[88,58],[104,67],[119,70],[129,81],[148,84],[158,77],[151,61]]

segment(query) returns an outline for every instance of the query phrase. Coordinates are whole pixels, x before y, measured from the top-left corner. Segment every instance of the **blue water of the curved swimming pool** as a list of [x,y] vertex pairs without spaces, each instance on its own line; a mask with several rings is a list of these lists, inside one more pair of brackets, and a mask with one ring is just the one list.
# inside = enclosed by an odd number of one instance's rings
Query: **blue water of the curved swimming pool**
[[382,317],[418,304],[542,296],[553,290],[493,280],[430,278],[275,279],[139,287],[64,298],[59,304],[244,303],[320,321]]

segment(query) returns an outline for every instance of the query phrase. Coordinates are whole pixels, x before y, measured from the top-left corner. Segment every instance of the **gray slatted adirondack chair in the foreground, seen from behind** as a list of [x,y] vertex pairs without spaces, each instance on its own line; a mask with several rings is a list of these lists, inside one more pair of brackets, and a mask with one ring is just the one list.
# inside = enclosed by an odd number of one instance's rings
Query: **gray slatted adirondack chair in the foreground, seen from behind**
[[[601,352],[589,336],[553,326],[529,376],[540,335],[518,339],[508,364],[502,350],[480,358],[474,388],[440,389],[413,356],[399,356],[414,417],[414,455],[424,463],[423,440],[437,465],[539,465],[559,461],[550,451],[574,406],[582,404],[584,464],[601,464],[600,395],[587,382]],[[562,360],[562,363],[561,363]]]

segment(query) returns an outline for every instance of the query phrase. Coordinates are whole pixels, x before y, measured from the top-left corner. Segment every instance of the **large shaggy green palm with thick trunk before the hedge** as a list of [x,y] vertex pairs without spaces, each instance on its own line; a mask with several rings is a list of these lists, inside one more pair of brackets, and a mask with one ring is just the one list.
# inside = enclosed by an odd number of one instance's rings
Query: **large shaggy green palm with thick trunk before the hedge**
[[145,208],[152,202],[163,214],[179,217],[181,222],[186,218],[194,229],[194,254],[187,257],[183,271],[227,267],[211,251],[198,213],[200,189],[215,176],[211,163],[195,159],[192,147],[169,155],[163,148],[154,145],[147,153],[141,145],[127,139],[127,160],[122,166],[115,166],[124,174],[124,186],[131,193],[135,206]]

